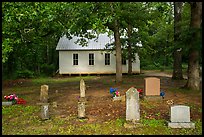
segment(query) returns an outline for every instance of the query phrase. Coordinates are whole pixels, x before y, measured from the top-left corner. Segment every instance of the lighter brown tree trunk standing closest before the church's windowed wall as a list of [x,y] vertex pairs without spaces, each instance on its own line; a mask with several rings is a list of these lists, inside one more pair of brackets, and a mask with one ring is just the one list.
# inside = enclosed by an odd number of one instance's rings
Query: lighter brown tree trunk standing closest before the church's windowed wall
[[114,21],[114,39],[116,47],[116,83],[122,82],[121,43],[118,21]]

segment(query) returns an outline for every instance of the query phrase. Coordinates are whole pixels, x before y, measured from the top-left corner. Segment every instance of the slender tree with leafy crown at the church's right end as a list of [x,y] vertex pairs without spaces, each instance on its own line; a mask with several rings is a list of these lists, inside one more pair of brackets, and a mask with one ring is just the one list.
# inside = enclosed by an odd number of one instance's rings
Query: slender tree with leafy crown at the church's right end
[[[121,31],[124,38],[122,40],[123,56],[128,59],[128,74],[132,74],[132,62],[135,60],[135,53],[139,52],[138,43],[141,38],[138,30],[144,27],[149,19],[148,10],[145,3],[142,2],[126,2],[121,3]],[[125,53],[125,55],[124,55]]]

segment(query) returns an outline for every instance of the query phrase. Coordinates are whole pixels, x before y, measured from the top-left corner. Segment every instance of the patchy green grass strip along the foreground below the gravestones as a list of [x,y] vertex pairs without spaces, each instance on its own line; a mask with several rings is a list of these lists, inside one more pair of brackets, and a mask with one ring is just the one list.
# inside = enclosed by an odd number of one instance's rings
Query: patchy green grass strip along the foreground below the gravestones
[[69,120],[75,116],[59,118],[52,117],[42,121],[37,113],[39,106],[3,106],[2,134],[3,135],[201,135],[202,122],[195,122],[195,129],[171,129],[167,121],[141,118],[142,126],[137,129],[124,128],[125,118],[115,119],[104,123],[70,125]]

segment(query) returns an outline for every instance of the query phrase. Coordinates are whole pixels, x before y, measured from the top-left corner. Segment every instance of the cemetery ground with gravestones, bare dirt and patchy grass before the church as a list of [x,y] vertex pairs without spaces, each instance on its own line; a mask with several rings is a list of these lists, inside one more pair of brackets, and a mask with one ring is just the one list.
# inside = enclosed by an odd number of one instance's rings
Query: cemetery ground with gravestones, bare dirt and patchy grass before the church
[[15,92],[26,103],[8,105],[2,99],[2,133],[201,134],[201,92],[183,91],[185,80],[142,74],[124,75],[122,84],[114,80],[67,76],[4,83],[3,96]]

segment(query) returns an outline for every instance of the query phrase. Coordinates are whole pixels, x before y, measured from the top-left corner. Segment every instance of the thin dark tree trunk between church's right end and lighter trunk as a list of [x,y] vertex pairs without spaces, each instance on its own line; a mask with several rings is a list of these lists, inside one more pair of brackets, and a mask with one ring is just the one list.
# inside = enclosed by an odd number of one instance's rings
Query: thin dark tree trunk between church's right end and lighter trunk
[[132,34],[132,26],[128,24],[128,75],[132,74],[132,47],[131,47],[131,34]]

